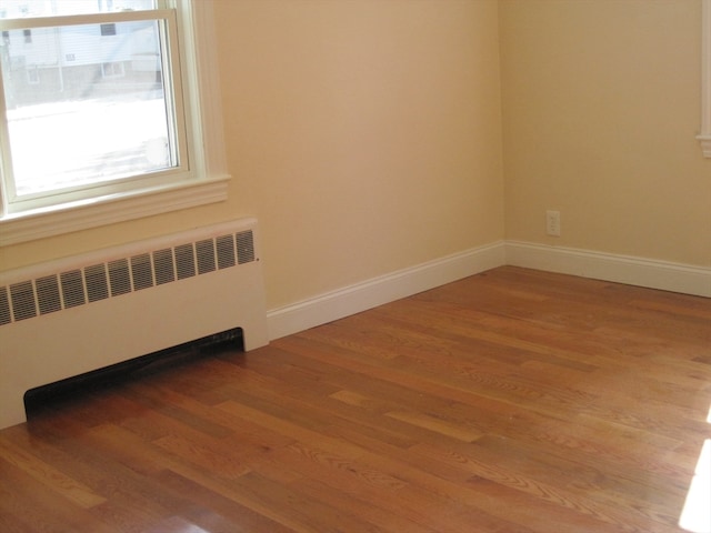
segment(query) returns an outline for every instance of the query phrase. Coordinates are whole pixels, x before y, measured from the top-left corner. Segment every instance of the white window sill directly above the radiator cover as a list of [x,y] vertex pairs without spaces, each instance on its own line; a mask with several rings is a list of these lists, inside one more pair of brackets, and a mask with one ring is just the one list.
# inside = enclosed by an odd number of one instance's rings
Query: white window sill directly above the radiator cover
[[227,200],[230,177],[108,195],[0,218],[0,247]]

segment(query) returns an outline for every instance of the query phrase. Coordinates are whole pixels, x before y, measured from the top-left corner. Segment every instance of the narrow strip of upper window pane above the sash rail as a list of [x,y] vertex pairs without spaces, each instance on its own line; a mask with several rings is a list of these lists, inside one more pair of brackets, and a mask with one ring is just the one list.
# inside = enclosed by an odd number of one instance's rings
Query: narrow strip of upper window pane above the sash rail
[[0,19],[157,9],[158,0],[0,0]]

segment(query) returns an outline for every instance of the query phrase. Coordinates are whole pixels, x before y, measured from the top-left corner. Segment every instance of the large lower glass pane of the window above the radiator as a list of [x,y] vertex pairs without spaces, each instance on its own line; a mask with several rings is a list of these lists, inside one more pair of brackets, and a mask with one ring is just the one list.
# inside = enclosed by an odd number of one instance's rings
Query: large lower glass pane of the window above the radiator
[[9,30],[0,59],[16,195],[177,167],[156,20]]

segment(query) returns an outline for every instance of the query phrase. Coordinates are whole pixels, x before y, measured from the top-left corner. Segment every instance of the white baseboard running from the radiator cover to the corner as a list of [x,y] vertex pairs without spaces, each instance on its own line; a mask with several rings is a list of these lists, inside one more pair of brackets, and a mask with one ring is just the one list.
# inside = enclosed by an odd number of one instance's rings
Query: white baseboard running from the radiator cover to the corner
[[419,264],[267,313],[279,339],[504,264],[503,241]]

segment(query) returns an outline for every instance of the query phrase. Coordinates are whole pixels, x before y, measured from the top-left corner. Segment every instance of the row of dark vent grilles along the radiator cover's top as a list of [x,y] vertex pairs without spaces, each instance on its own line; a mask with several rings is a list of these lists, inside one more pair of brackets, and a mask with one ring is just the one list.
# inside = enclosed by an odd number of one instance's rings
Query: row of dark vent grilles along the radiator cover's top
[[257,261],[251,230],[0,286],[0,326]]

